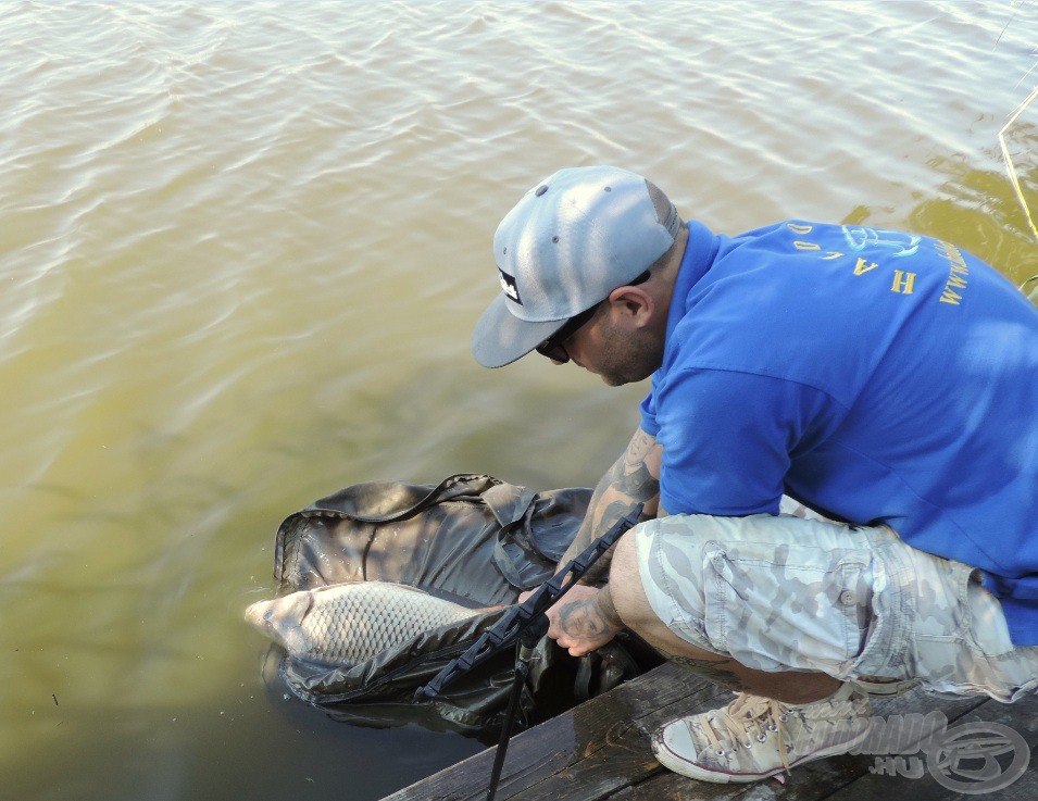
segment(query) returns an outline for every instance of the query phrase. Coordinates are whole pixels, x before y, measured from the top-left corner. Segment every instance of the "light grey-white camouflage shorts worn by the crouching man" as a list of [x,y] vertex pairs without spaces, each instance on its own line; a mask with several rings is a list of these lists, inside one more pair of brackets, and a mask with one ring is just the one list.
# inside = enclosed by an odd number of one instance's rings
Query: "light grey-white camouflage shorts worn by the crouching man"
[[633,534],[656,616],[748,667],[918,679],[1002,701],[1038,688],[1038,647],[1013,647],[979,572],[889,527],[674,515]]

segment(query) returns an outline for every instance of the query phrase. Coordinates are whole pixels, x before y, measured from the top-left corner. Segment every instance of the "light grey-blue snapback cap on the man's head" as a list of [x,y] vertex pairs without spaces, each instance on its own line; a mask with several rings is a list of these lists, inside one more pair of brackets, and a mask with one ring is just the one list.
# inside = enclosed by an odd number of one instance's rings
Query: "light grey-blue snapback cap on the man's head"
[[570,317],[634,280],[680,228],[660,223],[640,175],[611,166],[568,167],[526,192],[493,235],[501,284],[472,335],[485,367],[526,355]]

